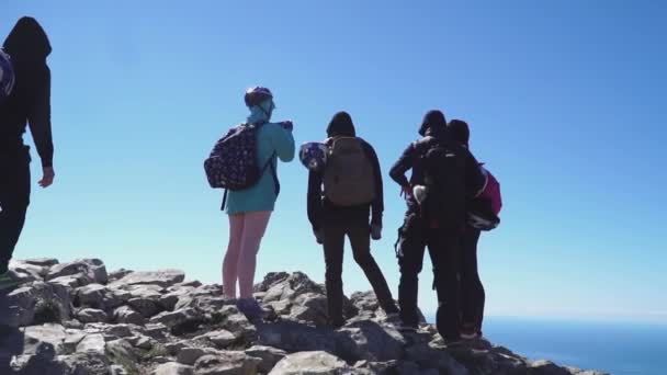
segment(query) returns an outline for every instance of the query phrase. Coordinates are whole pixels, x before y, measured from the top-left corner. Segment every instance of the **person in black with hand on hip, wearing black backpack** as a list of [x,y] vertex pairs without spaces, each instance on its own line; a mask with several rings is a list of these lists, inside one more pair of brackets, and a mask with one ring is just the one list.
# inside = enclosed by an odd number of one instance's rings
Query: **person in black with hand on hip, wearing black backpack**
[[[396,245],[400,266],[398,304],[402,328],[418,328],[418,275],[428,247],[439,302],[438,330],[445,341],[454,342],[460,340],[456,257],[460,232],[465,225],[465,194],[478,190],[483,177],[475,158],[465,148],[450,140],[442,112],[428,112],[419,135],[422,138],[408,146],[389,173],[400,185],[402,195],[407,201],[405,223],[399,229]],[[439,150],[444,152],[439,154]],[[438,158],[439,155],[441,159]],[[411,170],[409,181],[405,175],[408,170]],[[437,175],[440,172],[444,175]],[[434,184],[433,181],[443,182]],[[426,198],[421,196],[425,191]],[[445,196],[448,194],[450,196]],[[430,206],[441,202],[446,204]],[[446,208],[441,209],[443,206]]]

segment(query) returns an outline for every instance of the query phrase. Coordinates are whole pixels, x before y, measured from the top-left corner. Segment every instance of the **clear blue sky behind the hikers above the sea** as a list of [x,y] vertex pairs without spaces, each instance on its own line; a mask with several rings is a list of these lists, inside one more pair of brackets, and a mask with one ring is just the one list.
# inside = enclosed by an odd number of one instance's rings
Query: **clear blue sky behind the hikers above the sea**
[[[16,258],[219,283],[227,217],[202,162],[244,121],[244,90],[263,84],[297,144],[346,110],[375,146],[387,208],[373,250],[394,291],[404,204],[386,172],[437,107],[471,124],[502,185],[502,225],[479,247],[489,315],[667,321],[663,2],[2,1],[0,35],[26,14],[54,47],[57,179],[35,182]],[[279,172],[258,275],[321,282],[306,170]],[[370,288],[350,252],[343,277],[348,293]]]

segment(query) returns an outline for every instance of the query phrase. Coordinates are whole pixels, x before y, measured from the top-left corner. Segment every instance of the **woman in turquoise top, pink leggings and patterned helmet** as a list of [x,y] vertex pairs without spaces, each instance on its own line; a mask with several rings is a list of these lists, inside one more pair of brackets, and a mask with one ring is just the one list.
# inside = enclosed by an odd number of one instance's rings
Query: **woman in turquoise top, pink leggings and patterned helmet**
[[227,297],[236,298],[238,281],[237,306],[249,318],[257,318],[263,312],[252,297],[257,253],[278,198],[278,159],[284,162],[294,159],[294,137],[291,122],[270,122],[275,104],[269,89],[249,89],[245,99],[250,109],[247,124],[260,126],[257,132],[258,164],[269,167],[256,185],[229,192],[229,245],[223,263],[223,289]]

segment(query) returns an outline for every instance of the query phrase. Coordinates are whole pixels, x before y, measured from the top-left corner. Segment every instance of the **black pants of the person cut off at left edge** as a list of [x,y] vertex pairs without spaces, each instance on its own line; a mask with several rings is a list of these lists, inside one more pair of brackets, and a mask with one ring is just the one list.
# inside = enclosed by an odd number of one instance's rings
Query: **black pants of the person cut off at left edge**
[[30,155],[0,151],[0,273],[7,272],[30,204]]

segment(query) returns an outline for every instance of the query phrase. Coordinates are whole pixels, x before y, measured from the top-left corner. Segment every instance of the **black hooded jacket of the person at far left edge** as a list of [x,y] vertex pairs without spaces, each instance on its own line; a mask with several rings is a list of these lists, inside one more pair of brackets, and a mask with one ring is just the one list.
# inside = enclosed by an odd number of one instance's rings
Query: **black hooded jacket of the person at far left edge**
[[50,133],[50,43],[35,19],[24,16],[3,44],[15,72],[11,95],[0,104],[0,156],[10,158],[23,148],[26,123],[43,167],[53,166]]

